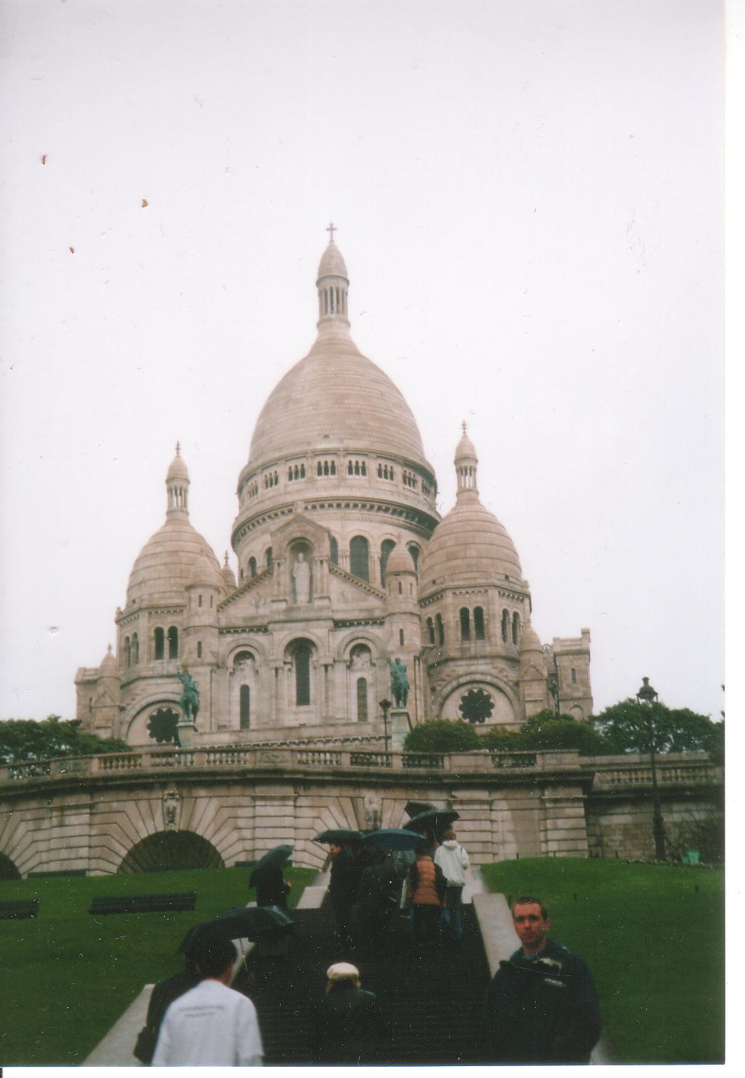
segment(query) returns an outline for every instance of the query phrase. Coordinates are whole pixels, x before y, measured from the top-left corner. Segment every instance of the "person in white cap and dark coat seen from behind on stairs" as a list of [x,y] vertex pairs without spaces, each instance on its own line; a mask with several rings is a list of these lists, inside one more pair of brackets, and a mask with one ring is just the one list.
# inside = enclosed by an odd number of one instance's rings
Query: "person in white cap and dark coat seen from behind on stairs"
[[360,970],[349,962],[329,966],[326,978],[311,1031],[314,1062],[349,1066],[371,1062],[380,1032],[378,997],[365,992]]

